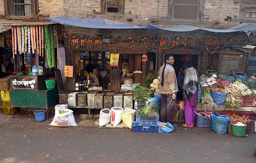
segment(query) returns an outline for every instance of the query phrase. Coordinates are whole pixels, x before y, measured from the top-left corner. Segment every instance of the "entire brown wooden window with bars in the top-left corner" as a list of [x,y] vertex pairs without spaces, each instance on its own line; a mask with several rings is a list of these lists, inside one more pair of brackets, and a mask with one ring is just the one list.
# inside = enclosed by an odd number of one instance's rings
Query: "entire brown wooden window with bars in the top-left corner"
[[38,0],[5,0],[5,15],[11,19],[33,18],[39,12]]

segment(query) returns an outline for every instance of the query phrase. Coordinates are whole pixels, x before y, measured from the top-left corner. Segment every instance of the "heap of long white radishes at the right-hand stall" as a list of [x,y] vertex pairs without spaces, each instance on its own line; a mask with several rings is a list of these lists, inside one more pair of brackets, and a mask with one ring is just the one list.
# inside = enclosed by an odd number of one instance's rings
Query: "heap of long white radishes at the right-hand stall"
[[241,106],[242,94],[238,84],[236,82],[234,84],[230,83],[228,87],[226,87],[226,92],[225,106],[230,108],[239,108]]

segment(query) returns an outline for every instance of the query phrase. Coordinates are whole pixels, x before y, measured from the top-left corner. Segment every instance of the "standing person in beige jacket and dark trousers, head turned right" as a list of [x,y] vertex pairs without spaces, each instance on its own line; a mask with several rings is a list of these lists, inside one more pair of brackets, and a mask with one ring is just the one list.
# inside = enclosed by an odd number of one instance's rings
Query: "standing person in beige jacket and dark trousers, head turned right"
[[174,127],[178,124],[173,123],[173,111],[176,104],[176,93],[178,92],[178,83],[173,68],[173,55],[165,55],[164,64],[159,68],[160,76],[159,93],[161,94],[160,121],[169,122]]

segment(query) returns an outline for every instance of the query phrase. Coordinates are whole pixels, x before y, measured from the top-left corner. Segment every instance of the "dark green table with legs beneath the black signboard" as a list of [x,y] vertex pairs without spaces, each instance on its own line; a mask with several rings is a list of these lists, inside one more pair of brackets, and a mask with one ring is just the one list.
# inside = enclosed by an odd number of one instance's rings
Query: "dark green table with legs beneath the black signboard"
[[[46,110],[48,119],[48,108],[59,104],[57,89],[51,90],[11,90],[11,108],[42,108]],[[13,114],[14,118],[14,114]]]

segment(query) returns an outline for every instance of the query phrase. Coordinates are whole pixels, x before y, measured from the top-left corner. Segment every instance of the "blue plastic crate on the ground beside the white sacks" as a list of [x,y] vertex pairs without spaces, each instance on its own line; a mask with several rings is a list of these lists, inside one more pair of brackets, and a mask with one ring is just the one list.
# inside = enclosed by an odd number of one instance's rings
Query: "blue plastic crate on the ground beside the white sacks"
[[157,122],[132,122],[133,132],[157,132]]

